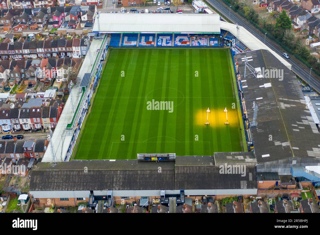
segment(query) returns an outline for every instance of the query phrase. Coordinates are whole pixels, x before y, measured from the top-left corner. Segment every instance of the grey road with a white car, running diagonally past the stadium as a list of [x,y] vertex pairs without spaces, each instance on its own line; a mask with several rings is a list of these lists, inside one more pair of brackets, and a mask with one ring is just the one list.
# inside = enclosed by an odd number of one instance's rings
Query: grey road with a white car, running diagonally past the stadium
[[[222,14],[225,15],[225,18],[229,18],[230,21],[232,21],[234,24],[238,24],[239,26],[245,27],[250,33],[252,33],[254,36],[256,36],[260,41],[264,41],[264,34],[262,34],[258,29],[256,29],[250,22],[243,17],[237,15],[236,13],[232,12],[229,17],[229,6],[223,4],[219,0],[207,0],[209,3],[211,3],[218,11],[220,11]],[[276,45],[276,43],[266,37],[266,45],[270,47],[273,51],[278,53],[282,56],[282,53],[285,52],[280,46]],[[291,70],[297,74],[299,77],[303,78],[305,81],[308,82],[309,80],[309,74],[310,74],[310,68],[306,68],[305,65],[302,65],[301,62],[297,62],[293,59],[287,59],[287,61],[292,64]],[[300,64],[301,63],[301,64]],[[310,82],[309,84],[316,89],[318,92],[320,92],[320,81],[319,78],[314,76],[311,73],[310,76]]]

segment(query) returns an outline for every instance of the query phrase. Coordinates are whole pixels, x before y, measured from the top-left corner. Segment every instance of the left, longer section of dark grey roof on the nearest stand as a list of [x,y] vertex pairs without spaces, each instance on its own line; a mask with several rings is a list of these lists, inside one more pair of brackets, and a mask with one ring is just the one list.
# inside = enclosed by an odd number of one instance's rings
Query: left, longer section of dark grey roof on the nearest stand
[[[88,167],[88,172],[84,172]],[[162,173],[158,173],[158,167]],[[174,162],[92,160],[40,162],[32,170],[30,190],[174,189]]]

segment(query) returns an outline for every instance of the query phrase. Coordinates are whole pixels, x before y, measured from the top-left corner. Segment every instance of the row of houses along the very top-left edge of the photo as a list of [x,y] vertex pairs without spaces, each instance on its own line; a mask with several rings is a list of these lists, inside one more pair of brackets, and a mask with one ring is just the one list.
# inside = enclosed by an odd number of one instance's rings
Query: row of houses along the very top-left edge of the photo
[[23,9],[53,6],[98,5],[99,0],[1,0],[1,9]]

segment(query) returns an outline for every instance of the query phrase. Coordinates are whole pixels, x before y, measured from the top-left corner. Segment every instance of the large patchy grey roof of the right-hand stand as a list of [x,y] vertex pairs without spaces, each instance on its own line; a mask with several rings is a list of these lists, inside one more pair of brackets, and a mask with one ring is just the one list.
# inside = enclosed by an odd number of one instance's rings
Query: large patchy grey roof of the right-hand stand
[[[283,80],[256,78],[249,69],[244,77],[244,56],[253,68],[279,69]],[[267,50],[239,53],[236,58],[249,121],[253,119],[252,103],[258,105],[258,126],[251,128],[257,161],[290,157],[320,161],[320,135],[296,76]]]

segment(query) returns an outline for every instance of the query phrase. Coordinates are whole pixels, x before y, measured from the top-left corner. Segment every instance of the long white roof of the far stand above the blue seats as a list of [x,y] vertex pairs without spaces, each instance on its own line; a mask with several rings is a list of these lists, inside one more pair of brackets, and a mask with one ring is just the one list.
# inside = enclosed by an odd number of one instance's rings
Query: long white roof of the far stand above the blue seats
[[93,33],[205,33],[220,34],[218,14],[100,13]]

